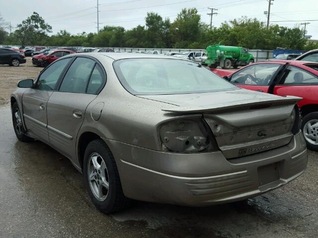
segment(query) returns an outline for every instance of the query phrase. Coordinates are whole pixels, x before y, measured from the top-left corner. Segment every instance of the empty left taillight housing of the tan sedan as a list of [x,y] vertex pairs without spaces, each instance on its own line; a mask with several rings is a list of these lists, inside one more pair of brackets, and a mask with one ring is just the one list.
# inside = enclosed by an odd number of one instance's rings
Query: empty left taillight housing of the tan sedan
[[215,151],[213,135],[201,118],[175,119],[159,127],[161,149],[166,152],[197,153]]

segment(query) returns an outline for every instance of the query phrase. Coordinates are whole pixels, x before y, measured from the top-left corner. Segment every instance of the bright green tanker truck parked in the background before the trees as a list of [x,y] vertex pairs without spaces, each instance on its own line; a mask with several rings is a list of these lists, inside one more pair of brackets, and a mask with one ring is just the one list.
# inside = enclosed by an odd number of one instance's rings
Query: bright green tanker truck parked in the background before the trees
[[236,46],[212,45],[207,49],[207,60],[204,65],[210,68],[221,66],[222,68],[237,68],[239,65],[246,65],[254,62],[254,57],[246,49]]

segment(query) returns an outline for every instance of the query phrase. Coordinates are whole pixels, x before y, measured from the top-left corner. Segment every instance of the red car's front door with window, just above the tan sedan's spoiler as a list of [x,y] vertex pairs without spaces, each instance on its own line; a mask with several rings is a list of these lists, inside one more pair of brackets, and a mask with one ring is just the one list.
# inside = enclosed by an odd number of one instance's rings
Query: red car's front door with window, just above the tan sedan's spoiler
[[268,93],[283,65],[284,63],[252,64],[232,74],[229,81],[245,89]]

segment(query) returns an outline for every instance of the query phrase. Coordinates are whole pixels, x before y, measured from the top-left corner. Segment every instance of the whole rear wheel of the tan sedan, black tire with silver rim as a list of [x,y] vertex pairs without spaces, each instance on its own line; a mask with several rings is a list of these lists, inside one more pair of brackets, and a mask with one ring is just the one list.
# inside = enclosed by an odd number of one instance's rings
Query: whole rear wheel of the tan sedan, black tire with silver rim
[[115,159],[102,140],[96,139],[87,145],[83,175],[89,197],[99,211],[110,214],[129,206],[130,199],[123,193]]

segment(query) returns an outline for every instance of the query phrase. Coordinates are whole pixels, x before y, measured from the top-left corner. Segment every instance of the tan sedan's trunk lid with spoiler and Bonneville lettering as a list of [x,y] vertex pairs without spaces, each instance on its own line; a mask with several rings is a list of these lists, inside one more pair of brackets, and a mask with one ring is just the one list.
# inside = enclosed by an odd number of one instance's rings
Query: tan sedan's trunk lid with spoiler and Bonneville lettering
[[290,142],[298,97],[275,97],[270,100],[249,99],[236,103],[174,107],[164,111],[201,113],[211,128],[216,142],[228,159],[254,154]]

